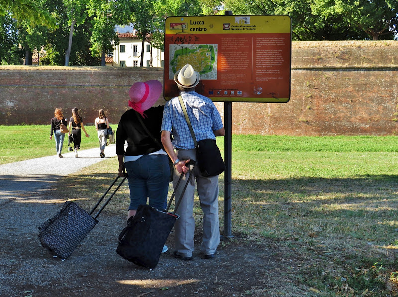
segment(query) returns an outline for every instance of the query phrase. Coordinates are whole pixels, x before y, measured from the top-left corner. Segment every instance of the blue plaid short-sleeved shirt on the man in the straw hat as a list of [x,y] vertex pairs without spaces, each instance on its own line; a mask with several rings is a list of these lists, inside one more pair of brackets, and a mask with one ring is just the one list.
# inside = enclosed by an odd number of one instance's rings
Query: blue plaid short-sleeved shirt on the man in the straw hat
[[[223,128],[220,113],[213,101],[197,92],[181,92],[196,140],[215,139],[213,131]],[[178,97],[166,103],[161,130],[171,132],[175,148],[194,149],[188,124]]]

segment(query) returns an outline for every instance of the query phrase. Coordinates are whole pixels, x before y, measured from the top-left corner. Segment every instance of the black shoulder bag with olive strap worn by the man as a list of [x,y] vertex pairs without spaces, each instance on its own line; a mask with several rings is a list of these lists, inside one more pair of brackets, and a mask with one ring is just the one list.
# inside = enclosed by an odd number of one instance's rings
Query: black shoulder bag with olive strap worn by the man
[[203,139],[196,141],[194,130],[192,129],[191,121],[188,117],[187,109],[183,98],[178,96],[181,108],[183,109],[185,120],[187,121],[188,128],[190,129],[192,139],[196,149],[196,157],[199,165],[200,172],[204,177],[216,176],[225,171],[225,163],[221,157],[220,149],[214,139]]

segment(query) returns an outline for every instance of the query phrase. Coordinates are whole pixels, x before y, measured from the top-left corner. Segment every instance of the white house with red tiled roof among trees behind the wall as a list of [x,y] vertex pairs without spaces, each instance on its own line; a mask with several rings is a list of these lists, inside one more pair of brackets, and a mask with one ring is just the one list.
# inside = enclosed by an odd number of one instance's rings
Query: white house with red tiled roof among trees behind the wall
[[[120,43],[115,46],[113,52],[113,61],[107,61],[107,65],[121,66],[121,67],[163,67],[164,52],[160,49],[152,48],[151,45],[145,41],[144,52],[141,52],[142,41],[137,36],[135,31],[133,33],[117,33]],[[150,36],[148,35],[148,38]],[[143,65],[141,63],[141,55],[144,55]]]

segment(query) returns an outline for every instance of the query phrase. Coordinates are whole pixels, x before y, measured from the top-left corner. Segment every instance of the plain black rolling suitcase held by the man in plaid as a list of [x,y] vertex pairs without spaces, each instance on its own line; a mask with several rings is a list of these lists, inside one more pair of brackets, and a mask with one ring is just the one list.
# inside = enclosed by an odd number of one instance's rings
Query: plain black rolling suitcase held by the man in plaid
[[[195,164],[194,164],[195,166]],[[192,169],[194,168],[192,167]],[[191,171],[192,171],[191,169]],[[189,175],[181,197],[177,200],[176,206],[172,213],[169,213],[170,205],[175,196],[175,190],[170,197],[170,201],[166,210],[157,210],[147,204],[138,206],[137,213],[134,217],[130,217],[127,222],[127,227],[123,229],[119,236],[119,245],[116,252],[124,259],[133,262],[136,265],[155,268],[158,265],[162,248],[166,243],[167,237],[170,234],[174,223],[179,218],[176,214],[177,208],[184,195],[185,189],[190,182],[192,174]],[[176,185],[178,188],[183,175]]]

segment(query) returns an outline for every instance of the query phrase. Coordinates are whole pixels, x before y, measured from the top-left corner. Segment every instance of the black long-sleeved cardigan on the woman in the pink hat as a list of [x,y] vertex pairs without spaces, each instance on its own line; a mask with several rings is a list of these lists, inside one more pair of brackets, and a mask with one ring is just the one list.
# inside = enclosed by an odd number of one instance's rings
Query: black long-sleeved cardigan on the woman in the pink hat
[[[147,129],[161,143],[161,125],[164,106],[151,107],[146,110],[145,118],[142,118]],[[124,144],[127,141],[127,149],[124,151]],[[116,154],[126,156],[138,156],[149,154],[161,149],[154,140],[146,133],[137,119],[134,109],[127,110],[120,118],[116,131]],[[164,150],[163,146],[162,149]]]

